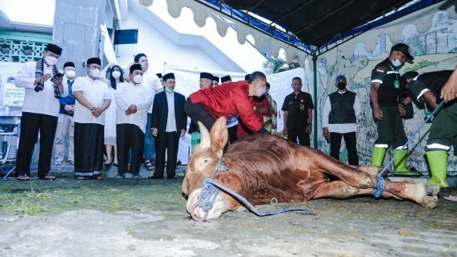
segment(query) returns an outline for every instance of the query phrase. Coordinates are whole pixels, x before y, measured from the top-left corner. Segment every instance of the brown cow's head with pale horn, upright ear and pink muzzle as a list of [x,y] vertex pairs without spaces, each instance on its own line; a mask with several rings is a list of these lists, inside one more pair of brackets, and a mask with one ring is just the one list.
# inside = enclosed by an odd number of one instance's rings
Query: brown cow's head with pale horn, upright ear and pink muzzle
[[[223,154],[223,148],[228,140],[226,123],[227,120],[224,117],[218,118],[210,133],[202,123],[198,122],[201,134],[200,144],[192,149],[192,155],[190,156],[188,167],[185,169],[185,178],[182,186],[183,193],[188,195],[186,209],[189,213],[192,211],[192,206],[197,202],[204,179],[211,177],[219,158]],[[209,211],[207,218],[217,218],[227,211],[225,201],[225,197],[218,194],[213,204],[213,209]],[[194,214],[197,218],[203,218],[205,215],[199,207],[195,208]]]

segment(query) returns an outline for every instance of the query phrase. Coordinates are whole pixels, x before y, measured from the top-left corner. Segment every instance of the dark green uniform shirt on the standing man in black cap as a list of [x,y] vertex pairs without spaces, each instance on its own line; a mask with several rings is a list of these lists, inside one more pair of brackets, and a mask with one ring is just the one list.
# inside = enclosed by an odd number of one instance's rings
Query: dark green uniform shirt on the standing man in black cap
[[[398,88],[395,88],[398,81]],[[372,71],[372,83],[381,83],[378,89],[379,106],[398,106],[400,96],[400,72],[388,59],[377,64]]]

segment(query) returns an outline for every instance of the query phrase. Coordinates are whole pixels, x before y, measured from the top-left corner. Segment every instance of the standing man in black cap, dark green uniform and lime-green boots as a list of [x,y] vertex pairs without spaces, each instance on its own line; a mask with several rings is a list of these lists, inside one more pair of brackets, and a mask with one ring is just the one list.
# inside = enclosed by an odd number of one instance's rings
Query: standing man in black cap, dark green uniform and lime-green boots
[[386,60],[380,62],[372,71],[371,100],[378,138],[374,142],[372,166],[382,166],[388,146],[393,148],[395,175],[418,175],[406,167],[408,149],[402,146],[407,142],[402,116],[405,116],[405,103],[400,102],[400,72],[405,61],[414,60],[409,46],[398,43],[391,48]]

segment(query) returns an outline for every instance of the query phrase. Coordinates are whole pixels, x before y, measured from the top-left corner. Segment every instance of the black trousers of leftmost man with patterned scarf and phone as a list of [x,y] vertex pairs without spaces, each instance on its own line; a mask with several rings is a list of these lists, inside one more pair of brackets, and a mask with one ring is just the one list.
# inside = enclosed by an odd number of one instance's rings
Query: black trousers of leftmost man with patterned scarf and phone
[[39,113],[22,113],[19,147],[16,156],[16,176],[30,176],[31,153],[34,151],[38,132],[40,133],[40,155],[38,177],[48,174],[51,169],[52,144],[54,144],[57,117]]

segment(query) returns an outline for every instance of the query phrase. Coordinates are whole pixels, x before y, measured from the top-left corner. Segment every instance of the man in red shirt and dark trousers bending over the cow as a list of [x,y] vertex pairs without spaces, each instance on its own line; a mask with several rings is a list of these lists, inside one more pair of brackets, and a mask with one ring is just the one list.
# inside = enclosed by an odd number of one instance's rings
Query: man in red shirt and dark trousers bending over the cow
[[216,118],[231,118],[239,114],[244,125],[253,132],[267,132],[262,121],[256,117],[253,96],[260,97],[266,92],[267,77],[255,71],[248,81],[225,83],[215,88],[198,90],[185,102],[185,113],[193,123],[203,123],[211,130]]

